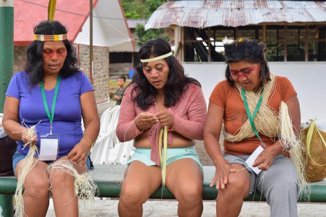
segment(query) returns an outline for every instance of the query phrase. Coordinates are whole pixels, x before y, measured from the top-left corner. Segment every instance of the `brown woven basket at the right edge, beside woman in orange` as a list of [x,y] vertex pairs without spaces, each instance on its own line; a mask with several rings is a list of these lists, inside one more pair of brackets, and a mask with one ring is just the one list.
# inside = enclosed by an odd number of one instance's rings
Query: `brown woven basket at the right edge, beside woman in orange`
[[302,156],[307,158],[304,167],[306,181],[320,181],[326,177],[326,132],[319,131],[311,120],[311,125],[302,130],[302,134]]

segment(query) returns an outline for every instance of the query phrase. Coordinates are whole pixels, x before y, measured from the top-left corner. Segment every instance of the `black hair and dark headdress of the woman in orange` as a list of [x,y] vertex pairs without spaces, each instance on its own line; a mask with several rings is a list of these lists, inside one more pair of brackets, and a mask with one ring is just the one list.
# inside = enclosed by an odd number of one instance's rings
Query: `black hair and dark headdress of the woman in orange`
[[233,43],[224,45],[225,59],[227,67],[225,69],[225,79],[231,87],[235,86],[230,73],[229,63],[240,62],[242,60],[249,63],[261,63],[260,67],[260,82],[266,84],[270,81],[270,71],[264,53],[267,48],[264,43],[258,43],[257,40],[239,39]]

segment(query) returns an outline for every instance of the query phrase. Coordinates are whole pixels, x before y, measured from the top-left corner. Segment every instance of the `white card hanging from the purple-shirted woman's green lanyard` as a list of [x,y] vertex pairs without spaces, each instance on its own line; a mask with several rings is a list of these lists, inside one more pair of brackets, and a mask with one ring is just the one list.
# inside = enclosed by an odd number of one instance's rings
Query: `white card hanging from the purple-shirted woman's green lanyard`
[[56,160],[58,144],[58,139],[41,139],[40,160]]

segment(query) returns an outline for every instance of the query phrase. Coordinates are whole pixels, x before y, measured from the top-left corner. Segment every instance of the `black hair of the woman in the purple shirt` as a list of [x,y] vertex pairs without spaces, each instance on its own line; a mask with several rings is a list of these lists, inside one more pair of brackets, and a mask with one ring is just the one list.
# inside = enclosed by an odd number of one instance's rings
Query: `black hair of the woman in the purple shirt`
[[[37,35],[61,35],[66,33],[66,28],[58,21],[42,21],[34,28],[34,34]],[[77,66],[76,49],[68,40],[64,40],[63,43],[67,50],[67,57],[59,75],[65,78],[73,75],[80,68]],[[43,45],[44,42],[34,41],[30,44],[27,50],[27,64],[25,71],[30,76],[31,86],[43,80]]]

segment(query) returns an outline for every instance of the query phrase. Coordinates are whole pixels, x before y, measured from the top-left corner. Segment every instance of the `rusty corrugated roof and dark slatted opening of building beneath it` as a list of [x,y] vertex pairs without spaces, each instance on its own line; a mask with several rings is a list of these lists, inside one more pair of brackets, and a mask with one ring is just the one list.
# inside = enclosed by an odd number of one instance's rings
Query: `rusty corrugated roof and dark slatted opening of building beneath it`
[[223,61],[224,36],[264,41],[271,61],[325,61],[325,25],[326,2],[205,0],[161,5],[145,29],[173,27],[182,61]]

